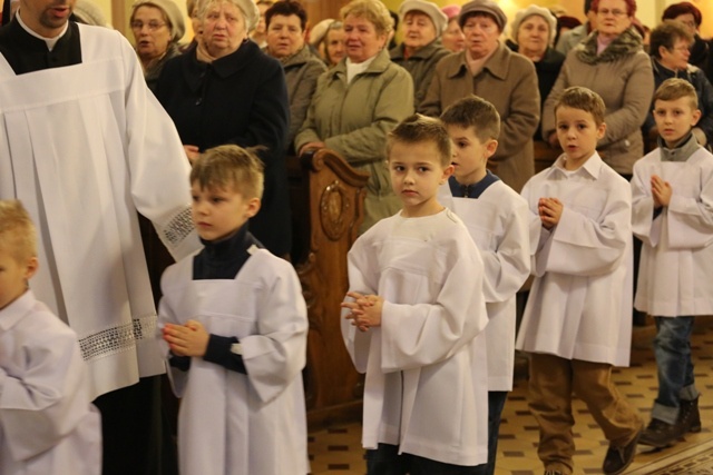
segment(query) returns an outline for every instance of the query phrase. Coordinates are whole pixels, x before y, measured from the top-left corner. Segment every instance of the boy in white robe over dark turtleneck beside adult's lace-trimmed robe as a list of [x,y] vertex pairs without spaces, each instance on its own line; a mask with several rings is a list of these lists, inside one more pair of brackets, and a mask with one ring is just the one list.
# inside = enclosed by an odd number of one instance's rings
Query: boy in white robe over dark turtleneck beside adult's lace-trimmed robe
[[166,269],[159,313],[183,397],[180,474],[304,475],[306,305],[294,268],[247,229],[262,164],[237,146],[209,149],[191,189],[205,247]]

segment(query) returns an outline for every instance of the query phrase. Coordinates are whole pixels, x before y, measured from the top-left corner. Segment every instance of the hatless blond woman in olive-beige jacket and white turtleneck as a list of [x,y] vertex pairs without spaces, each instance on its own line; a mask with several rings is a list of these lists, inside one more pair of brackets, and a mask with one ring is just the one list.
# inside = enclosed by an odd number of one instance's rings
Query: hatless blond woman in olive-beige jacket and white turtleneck
[[400,209],[385,166],[387,133],[413,113],[413,81],[384,49],[389,10],[379,0],[352,0],[341,10],[346,60],[320,77],[295,148],[326,147],[370,175],[361,231]]

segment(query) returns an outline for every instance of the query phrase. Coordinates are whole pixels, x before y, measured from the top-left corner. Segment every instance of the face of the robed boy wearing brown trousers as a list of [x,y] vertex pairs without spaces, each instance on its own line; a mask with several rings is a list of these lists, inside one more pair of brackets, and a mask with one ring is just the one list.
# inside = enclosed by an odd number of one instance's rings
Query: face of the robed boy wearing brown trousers
[[556,117],[557,138],[567,155],[566,168],[577,169],[594,155],[606,126],[597,126],[592,112],[567,106],[558,107]]

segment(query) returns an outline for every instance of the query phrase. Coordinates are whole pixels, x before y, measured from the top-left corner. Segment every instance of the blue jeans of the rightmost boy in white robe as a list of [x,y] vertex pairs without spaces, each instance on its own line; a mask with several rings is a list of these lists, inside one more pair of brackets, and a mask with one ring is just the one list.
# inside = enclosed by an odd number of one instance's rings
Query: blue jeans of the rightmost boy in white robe
[[693,378],[691,333],[693,317],[655,317],[654,355],[658,370],[658,395],[652,418],[675,424],[681,399],[695,399],[699,392]]

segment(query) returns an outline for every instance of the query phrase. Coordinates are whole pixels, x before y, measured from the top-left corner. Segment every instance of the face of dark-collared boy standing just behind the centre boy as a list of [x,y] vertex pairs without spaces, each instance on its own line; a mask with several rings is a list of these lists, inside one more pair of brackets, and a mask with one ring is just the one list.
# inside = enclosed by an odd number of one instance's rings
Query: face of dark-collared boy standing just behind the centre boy
[[461,185],[477,184],[485,178],[488,158],[498,148],[497,140],[480,141],[472,127],[446,126],[453,142],[453,176]]

